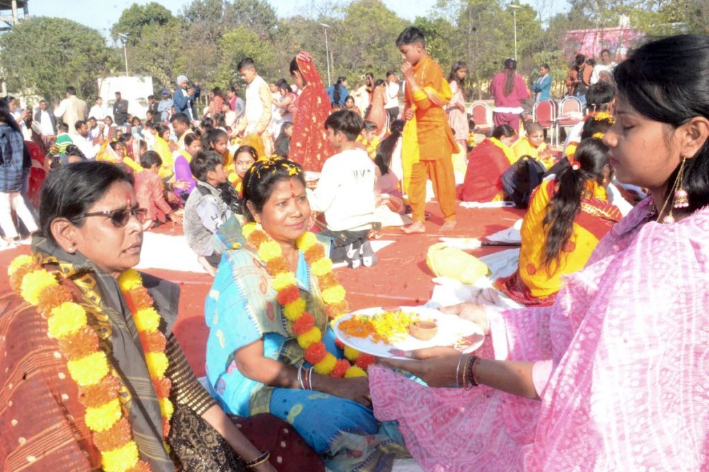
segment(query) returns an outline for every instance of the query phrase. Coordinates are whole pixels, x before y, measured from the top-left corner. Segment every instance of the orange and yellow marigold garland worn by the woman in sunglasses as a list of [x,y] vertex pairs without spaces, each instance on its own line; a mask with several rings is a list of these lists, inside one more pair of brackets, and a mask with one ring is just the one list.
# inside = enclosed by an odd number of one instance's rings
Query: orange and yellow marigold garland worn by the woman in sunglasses
[[[69,376],[79,386],[79,401],[86,407],[84,422],[101,452],[102,468],[107,472],[150,471],[150,464],[140,460],[127,412],[121,407],[118,396],[121,380],[111,373],[99,337],[88,324],[86,310],[72,301],[72,292],[55,275],[35,264],[29,255],[15,258],[8,267],[8,275],[12,289],[36,306],[47,320],[48,336],[57,339],[60,352],[67,359]],[[157,330],[160,314],[152,308],[152,297],[143,287],[138,272],[124,272],[119,286],[138,327],[167,437],[173,406],[169,401],[170,381],[164,377],[168,367],[164,355],[167,341]]]

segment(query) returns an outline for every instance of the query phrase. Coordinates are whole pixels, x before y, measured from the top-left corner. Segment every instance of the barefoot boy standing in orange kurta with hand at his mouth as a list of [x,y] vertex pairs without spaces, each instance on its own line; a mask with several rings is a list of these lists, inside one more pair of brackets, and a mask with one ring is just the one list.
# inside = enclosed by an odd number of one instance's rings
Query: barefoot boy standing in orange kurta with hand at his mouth
[[456,222],[452,154],[458,151],[445,113],[445,105],[452,97],[450,86],[443,79],[441,67],[426,52],[425,38],[419,28],[403,30],[396,39],[396,47],[404,59],[401,72],[406,79],[403,117],[408,121],[407,127],[415,127],[415,133],[413,129],[405,130],[403,138],[404,181],[405,185],[408,182],[406,192],[413,211],[413,224],[403,231],[425,231],[428,178],[445,220],[441,231],[450,231]]

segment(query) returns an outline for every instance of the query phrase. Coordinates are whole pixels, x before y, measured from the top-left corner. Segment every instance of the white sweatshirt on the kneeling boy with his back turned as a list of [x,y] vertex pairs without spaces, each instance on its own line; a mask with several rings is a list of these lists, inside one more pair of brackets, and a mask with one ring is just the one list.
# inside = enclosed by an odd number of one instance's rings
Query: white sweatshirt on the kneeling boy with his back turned
[[323,165],[316,189],[308,201],[325,213],[332,231],[361,231],[374,221],[374,162],[364,149],[342,151]]

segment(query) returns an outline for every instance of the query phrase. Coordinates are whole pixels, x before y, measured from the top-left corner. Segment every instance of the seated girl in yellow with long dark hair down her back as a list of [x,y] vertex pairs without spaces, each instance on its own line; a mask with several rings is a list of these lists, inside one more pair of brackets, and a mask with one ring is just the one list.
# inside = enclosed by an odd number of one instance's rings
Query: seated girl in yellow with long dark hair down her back
[[622,218],[606,196],[611,177],[608,146],[584,139],[576,161],[532,193],[518,270],[495,286],[521,304],[552,305],[562,275],[584,268],[598,241]]

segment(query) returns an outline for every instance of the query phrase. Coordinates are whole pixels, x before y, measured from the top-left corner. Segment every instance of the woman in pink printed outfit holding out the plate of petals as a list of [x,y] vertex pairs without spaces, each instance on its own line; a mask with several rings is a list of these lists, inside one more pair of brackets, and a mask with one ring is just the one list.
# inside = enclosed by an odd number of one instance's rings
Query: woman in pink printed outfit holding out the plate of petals
[[[696,64],[702,64],[696,66]],[[709,468],[709,37],[650,42],[614,71],[603,142],[649,196],[550,307],[447,311],[489,336],[370,368],[379,420],[428,471]],[[701,70],[693,70],[693,67]]]

